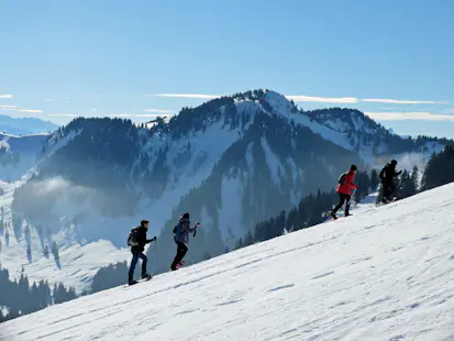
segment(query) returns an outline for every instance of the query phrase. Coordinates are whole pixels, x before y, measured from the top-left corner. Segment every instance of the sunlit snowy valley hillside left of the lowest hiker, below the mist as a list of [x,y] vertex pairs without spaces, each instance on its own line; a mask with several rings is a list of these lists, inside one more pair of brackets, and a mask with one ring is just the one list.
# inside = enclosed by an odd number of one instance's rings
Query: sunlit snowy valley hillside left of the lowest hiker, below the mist
[[[18,182],[20,183],[20,182]],[[100,267],[110,263],[130,262],[129,249],[115,248],[107,240],[87,243],[80,237],[78,227],[66,227],[53,235],[40,235],[36,227],[29,226],[30,234],[25,233],[25,224],[19,231],[13,231],[10,222],[12,211],[10,209],[13,190],[18,183],[8,184],[0,182],[0,207],[3,208],[3,221],[7,224],[5,232],[0,233],[0,263],[8,268],[10,277],[18,280],[23,273],[33,282],[47,280],[51,286],[55,283],[64,283],[66,287],[75,288],[77,295],[91,288],[95,274]],[[64,224],[64,221],[62,221]],[[45,230],[46,227],[43,227]],[[8,237],[7,237],[8,235]],[[59,245],[59,260],[56,261],[51,252],[53,242]],[[27,255],[30,248],[31,254]],[[44,249],[48,248],[46,256]]]

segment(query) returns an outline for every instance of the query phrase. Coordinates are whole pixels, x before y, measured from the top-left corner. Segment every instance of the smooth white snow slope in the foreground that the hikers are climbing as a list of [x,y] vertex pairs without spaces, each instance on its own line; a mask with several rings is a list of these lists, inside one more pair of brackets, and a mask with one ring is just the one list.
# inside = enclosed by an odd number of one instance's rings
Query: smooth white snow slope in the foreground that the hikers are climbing
[[2,323],[2,340],[452,340],[454,184]]

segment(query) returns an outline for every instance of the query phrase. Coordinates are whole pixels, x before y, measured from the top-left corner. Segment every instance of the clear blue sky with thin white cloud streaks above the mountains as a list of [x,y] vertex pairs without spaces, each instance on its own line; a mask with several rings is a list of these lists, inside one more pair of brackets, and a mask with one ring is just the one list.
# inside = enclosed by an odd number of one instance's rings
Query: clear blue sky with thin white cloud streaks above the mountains
[[2,0],[0,13],[0,113],[143,121],[268,88],[454,138],[454,1]]

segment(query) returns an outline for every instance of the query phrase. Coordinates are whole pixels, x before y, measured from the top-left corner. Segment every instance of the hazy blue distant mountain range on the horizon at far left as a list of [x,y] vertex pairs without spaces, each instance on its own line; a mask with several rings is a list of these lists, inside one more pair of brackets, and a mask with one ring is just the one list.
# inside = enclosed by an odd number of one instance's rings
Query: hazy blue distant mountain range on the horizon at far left
[[0,133],[9,135],[33,135],[41,133],[52,133],[59,125],[49,121],[44,121],[36,118],[12,118],[5,114],[0,114]]

